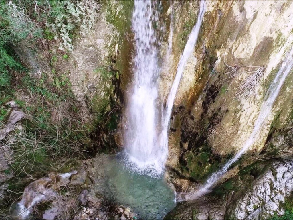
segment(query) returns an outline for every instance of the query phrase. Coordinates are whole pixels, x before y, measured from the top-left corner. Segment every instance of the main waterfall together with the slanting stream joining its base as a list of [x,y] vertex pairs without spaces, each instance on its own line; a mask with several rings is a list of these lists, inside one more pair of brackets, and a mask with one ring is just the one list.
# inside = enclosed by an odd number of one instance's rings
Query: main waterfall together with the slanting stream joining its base
[[[162,110],[162,124],[158,120],[157,78],[159,65],[157,58],[157,38],[153,23],[158,21],[158,13],[153,10],[156,1],[135,1],[132,28],[135,37],[134,81],[127,106],[128,123],[126,130],[126,152],[129,166],[142,174],[160,176],[168,155],[168,124],[176,92],[185,64],[193,52],[205,12],[205,2],[200,2],[197,23],[193,27],[176,76],[167,99],[166,109]],[[171,14],[173,16],[173,14]],[[171,29],[173,30],[173,29]],[[172,33],[170,42],[172,43]],[[168,56],[167,56],[168,57]],[[161,130],[161,132],[160,132]]]

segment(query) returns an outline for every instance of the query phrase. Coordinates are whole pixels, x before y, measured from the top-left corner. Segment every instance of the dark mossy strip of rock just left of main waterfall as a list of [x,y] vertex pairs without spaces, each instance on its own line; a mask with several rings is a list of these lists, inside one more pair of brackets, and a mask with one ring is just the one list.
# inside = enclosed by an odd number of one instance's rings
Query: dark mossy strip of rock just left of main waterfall
[[115,152],[117,149],[113,132],[118,128],[121,115],[120,74],[114,63],[111,66],[100,66],[94,72],[99,76],[99,83],[93,98],[88,98],[90,112],[94,116],[90,137],[94,149]]

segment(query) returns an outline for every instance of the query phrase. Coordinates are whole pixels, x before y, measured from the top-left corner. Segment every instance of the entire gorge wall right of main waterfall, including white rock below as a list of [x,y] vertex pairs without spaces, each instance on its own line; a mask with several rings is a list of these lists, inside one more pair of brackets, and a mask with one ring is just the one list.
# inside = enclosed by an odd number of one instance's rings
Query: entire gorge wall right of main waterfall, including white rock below
[[[178,192],[198,189],[242,148],[254,128],[268,87],[292,50],[291,2],[207,1],[206,4],[198,43],[183,72],[170,122],[167,178]],[[176,31],[171,68],[161,77],[162,99],[168,94],[166,85],[171,84],[170,79],[176,71],[182,51],[180,43],[185,40],[185,32],[194,25],[189,22],[190,19],[195,21],[198,3],[174,2],[172,8]],[[247,87],[254,91],[243,95],[245,90],[240,88],[243,89],[247,77],[258,68],[263,68],[263,73],[257,86]],[[265,125],[260,128],[257,141],[232,165],[213,192],[200,201],[183,202],[166,219],[258,219],[274,213],[284,214],[281,204],[283,197],[291,193],[291,190],[284,192],[291,178],[272,180],[280,185],[286,182],[285,189],[275,192],[281,195],[280,201],[267,188],[260,189],[258,184],[266,182],[271,189],[275,188],[267,183],[270,177],[266,178],[270,169],[278,172],[272,159],[283,161],[282,158],[288,159],[291,153],[291,126],[292,74],[287,77]],[[290,161],[289,157],[281,163],[290,167]],[[292,172],[288,171],[288,175]],[[267,199],[255,195],[259,191]],[[261,205],[255,205],[249,193],[258,197]],[[247,208],[249,202],[252,204],[250,210]]]

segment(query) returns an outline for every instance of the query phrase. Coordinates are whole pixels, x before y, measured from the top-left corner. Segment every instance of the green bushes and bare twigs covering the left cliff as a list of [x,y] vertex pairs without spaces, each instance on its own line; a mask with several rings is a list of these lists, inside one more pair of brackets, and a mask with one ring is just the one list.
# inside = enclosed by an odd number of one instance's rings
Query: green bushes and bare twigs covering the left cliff
[[[109,57],[109,64],[95,71],[103,87],[88,99],[93,120],[81,110],[70,72],[64,70],[74,40],[95,27],[101,6],[100,1],[0,1],[1,127],[12,111],[8,101],[14,100],[26,115],[0,143],[13,152],[6,158],[10,169],[1,170],[1,175],[13,176],[1,210],[16,201],[32,179],[61,170],[73,158],[113,148],[113,140],[105,139],[117,128],[120,115],[115,59]],[[33,47],[30,58],[41,60],[49,70],[39,66],[42,71],[33,73],[18,57],[19,46]]]

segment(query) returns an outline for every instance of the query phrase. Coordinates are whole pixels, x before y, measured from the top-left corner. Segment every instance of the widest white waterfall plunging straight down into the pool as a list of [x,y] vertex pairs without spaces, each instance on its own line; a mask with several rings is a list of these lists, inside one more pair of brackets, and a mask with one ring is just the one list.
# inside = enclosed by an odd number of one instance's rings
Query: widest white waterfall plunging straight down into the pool
[[129,91],[125,142],[127,163],[131,169],[157,176],[163,172],[165,154],[158,141],[156,1],[134,1],[132,29],[135,38],[134,80]]

